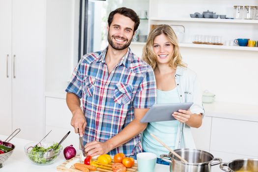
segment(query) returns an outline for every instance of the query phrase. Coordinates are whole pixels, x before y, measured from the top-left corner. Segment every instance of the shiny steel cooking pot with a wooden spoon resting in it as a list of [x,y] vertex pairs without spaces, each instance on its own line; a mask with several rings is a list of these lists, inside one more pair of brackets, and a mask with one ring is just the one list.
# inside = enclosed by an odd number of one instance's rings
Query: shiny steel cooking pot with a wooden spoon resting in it
[[[184,158],[187,163],[182,162],[171,152],[169,155],[160,155],[162,160],[170,163],[170,172],[210,172],[211,166],[222,162],[222,159],[214,158],[212,154],[203,150],[176,149],[174,152]],[[212,163],[213,161],[218,162]]]

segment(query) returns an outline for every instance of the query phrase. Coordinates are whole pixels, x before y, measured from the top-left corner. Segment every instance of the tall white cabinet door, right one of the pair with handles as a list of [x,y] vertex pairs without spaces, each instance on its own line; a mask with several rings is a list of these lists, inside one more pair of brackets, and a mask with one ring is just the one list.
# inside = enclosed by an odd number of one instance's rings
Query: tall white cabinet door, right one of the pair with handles
[[13,128],[28,140],[44,134],[45,6],[45,0],[13,0]]

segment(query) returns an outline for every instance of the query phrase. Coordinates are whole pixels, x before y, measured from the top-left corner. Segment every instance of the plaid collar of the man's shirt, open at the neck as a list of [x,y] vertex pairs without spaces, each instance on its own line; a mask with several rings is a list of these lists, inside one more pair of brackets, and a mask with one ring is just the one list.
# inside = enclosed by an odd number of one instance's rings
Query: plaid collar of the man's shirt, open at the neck
[[[105,57],[107,53],[108,47],[102,51],[102,53],[99,55],[99,58],[96,60],[97,62],[105,63]],[[125,67],[129,69],[130,67],[130,61],[133,58],[133,53],[130,48],[128,48],[126,54],[121,58],[120,62],[117,64],[117,66],[120,66],[123,64]]]

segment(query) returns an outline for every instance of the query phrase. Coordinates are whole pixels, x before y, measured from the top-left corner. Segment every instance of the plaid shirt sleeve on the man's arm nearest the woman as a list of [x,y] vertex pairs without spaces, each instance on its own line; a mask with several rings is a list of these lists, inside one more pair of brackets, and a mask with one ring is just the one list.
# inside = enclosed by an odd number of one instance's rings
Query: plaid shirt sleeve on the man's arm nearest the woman
[[156,81],[152,68],[148,65],[143,80],[139,85],[135,98],[134,108],[150,108],[156,100]]

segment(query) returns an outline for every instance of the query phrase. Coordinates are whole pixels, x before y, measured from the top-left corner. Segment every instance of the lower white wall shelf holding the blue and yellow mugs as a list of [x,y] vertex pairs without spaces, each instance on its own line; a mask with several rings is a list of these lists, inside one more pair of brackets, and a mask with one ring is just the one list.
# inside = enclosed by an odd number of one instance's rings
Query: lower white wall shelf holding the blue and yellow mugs
[[[145,42],[132,42],[131,44],[144,46]],[[221,50],[240,50],[240,51],[243,50],[243,51],[257,51],[258,52],[258,47],[239,47],[239,46],[207,45],[207,44],[193,44],[193,43],[179,43],[179,47],[221,49]]]

